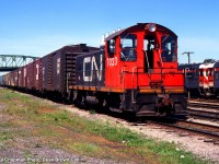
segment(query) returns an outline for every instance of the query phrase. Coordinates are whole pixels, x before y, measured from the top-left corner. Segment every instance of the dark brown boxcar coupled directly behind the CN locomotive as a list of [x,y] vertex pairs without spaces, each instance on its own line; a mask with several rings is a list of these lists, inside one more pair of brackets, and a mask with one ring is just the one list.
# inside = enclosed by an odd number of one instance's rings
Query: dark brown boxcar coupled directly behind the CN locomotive
[[65,46],[42,58],[43,92],[53,92],[67,96],[68,85],[74,83],[76,56],[99,50],[85,44]]

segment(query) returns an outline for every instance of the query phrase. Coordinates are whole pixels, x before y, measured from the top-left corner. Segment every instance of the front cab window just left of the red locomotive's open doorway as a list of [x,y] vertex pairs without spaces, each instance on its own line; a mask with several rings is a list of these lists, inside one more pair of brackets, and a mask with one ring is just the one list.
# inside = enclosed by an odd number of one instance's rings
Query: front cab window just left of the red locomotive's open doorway
[[136,61],[137,36],[135,34],[125,34],[120,36],[120,60]]

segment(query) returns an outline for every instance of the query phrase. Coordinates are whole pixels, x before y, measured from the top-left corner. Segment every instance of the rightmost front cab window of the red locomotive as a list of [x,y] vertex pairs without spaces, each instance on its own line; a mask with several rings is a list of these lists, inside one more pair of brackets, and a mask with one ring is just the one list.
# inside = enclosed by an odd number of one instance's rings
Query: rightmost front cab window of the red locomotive
[[162,60],[166,62],[176,61],[176,37],[170,35],[163,35],[161,37],[162,45]]

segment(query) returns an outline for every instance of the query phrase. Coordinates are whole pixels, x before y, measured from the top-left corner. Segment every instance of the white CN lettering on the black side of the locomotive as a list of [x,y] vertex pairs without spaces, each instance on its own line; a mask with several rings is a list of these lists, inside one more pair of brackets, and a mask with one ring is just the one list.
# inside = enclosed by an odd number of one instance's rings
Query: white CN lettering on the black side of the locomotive
[[[83,59],[83,81],[89,82],[97,79],[102,80],[102,70],[103,70],[103,55],[100,55],[100,59],[96,62],[95,56],[85,57]],[[94,78],[95,77],[95,78]]]

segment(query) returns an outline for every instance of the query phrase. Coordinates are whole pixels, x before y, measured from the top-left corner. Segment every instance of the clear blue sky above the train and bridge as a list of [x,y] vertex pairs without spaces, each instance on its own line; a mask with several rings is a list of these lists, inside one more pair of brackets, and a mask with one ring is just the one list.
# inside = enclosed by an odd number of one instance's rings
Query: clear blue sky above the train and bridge
[[178,36],[178,61],[219,60],[218,0],[0,0],[0,54],[42,57],[65,45],[154,22]]

